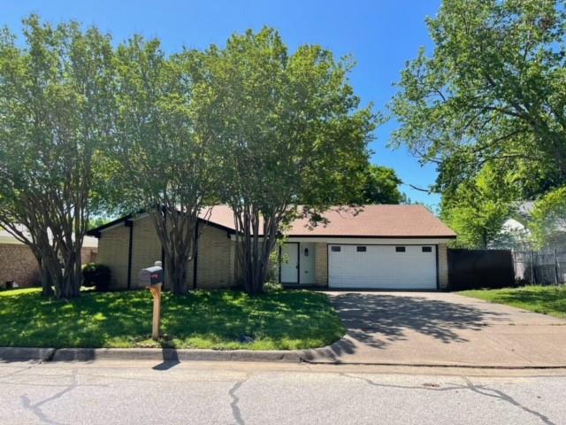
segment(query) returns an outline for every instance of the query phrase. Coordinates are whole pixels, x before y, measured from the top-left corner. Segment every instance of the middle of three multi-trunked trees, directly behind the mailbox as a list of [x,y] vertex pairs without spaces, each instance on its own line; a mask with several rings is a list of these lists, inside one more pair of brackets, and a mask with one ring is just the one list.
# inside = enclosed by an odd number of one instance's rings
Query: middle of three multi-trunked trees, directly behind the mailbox
[[184,294],[212,182],[212,139],[193,105],[197,67],[190,52],[166,57],[158,40],[141,36],[119,45],[116,65],[113,205],[149,213],[163,246],[168,285]]

